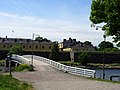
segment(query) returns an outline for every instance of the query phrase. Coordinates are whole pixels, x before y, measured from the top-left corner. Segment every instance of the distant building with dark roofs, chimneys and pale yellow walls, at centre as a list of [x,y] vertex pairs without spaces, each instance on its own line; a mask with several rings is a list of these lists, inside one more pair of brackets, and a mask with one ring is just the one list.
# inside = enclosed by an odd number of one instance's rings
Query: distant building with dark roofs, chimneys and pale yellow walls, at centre
[[59,43],[59,49],[66,52],[94,51],[93,46],[85,45],[84,43],[71,38],[69,38],[69,40],[64,39],[63,42]]

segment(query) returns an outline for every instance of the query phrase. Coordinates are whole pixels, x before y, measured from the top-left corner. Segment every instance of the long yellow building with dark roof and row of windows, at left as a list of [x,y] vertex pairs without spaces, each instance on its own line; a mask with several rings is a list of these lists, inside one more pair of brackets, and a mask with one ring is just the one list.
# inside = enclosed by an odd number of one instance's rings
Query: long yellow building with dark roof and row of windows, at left
[[0,50],[9,50],[14,45],[22,46],[24,51],[50,52],[52,42],[39,42],[22,38],[7,38],[7,36],[6,38],[0,37]]

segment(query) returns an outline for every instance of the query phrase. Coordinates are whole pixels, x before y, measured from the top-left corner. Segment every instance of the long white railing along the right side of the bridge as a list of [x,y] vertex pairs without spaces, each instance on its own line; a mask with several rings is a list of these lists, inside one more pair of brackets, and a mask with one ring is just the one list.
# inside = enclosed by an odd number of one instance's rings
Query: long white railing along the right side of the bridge
[[[24,56],[24,57],[27,58],[29,56]],[[85,77],[92,77],[92,78],[95,77],[95,70],[71,67],[71,66],[67,66],[67,65],[61,64],[59,62],[55,62],[53,60],[43,58],[43,57],[39,57],[39,56],[34,56],[34,59],[43,61],[47,64],[50,64],[52,67],[54,67],[58,70],[62,70],[64,72],[68,72],[68,73],[75,74],[75,75],[80,75],[80,76],[85,76]]]

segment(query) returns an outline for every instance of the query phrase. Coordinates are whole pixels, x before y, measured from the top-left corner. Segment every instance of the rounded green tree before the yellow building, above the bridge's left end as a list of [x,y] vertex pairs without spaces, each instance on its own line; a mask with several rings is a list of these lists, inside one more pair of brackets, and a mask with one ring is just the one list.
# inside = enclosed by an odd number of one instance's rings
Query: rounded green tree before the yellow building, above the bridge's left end
[[19,45],[14,45],[10,48],[9,53],[8,54],[18,54],[20,55],[22,53],[22,47]]

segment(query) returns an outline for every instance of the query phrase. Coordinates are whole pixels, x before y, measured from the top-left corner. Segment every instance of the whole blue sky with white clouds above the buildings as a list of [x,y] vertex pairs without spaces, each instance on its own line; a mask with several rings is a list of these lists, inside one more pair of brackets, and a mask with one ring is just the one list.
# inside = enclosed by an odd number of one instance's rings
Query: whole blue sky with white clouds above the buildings
[[[91,28],[92,0],[0,0],[0,37],[48,38],[62,42],[75,38],[97,46],[103,31]],[[107,40],[112,41],[111,37]]]

